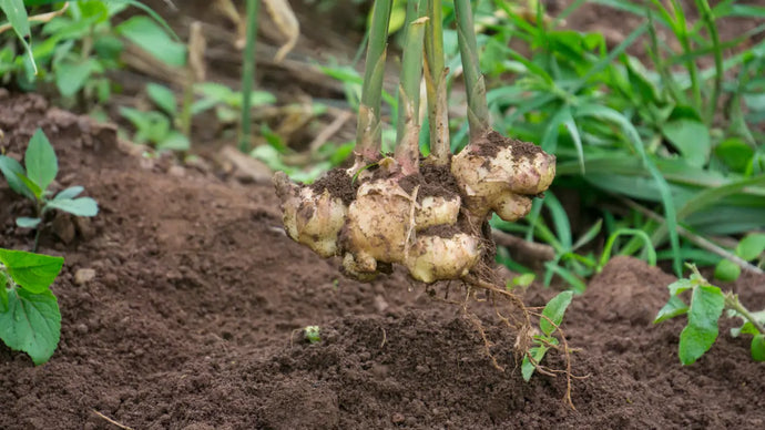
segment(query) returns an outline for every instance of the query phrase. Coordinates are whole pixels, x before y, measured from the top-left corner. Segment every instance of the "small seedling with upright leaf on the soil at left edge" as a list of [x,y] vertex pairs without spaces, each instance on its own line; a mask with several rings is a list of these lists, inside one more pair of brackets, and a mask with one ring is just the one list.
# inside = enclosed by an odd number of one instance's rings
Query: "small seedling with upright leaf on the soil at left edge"
[[[11,190],[35,203],[37,216],[18,217],[16,224],[19,227],[38,228],[43,216],[52,209],[68,212],[75,216],[98,215],[99,205],[93,198],[78,197],[84,191],[80,185],[70,186],[51,197],[52,193],[48,187],[59,173],[59,161],[53,146],[41,129],[38,129],[29,141],[24,154],[24,166],[26,168],[7,155],[0,155],[0,171]],[[37,249],[39,237],[40,229],[38,228],[33,250]]]

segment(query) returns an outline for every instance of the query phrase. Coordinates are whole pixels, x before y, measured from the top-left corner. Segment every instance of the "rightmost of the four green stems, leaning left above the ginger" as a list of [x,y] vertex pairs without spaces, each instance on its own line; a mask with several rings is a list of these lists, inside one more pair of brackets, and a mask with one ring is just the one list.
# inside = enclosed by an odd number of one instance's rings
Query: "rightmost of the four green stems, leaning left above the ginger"
[[457,18],[457,41],[462,58],[462,73],[468,93],[468,122],[470,139],[476,139],[489,130],[489,105],[486,101],[486,84],[478,62],[478,42],[469,0],[455,0]]

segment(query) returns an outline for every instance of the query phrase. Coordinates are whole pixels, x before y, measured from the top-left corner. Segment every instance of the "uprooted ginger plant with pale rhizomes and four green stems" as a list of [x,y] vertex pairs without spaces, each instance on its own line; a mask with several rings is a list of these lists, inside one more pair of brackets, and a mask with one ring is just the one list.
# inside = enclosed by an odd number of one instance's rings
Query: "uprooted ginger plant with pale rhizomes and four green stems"
[[[410,0],[398,91],[397,144],[380,154],[380,100],[390,0],[375,2],[358,113],[354,165],[313,185],[277,173],[284,223],[293,239],[323,257],[341,256],[346,274],[368,280],[392,264],[425,283],[479,274],[493,252],[484,225],[497,213],[517,221],[555,173],[539,146],[490,130],[470,2],[455,1],[468,95],[470,142],[449,154],[446,76],[438,0]],[[424,55],[425,51],[425,55]],[[419,153],[419,88],[425,79],[431,153]]]

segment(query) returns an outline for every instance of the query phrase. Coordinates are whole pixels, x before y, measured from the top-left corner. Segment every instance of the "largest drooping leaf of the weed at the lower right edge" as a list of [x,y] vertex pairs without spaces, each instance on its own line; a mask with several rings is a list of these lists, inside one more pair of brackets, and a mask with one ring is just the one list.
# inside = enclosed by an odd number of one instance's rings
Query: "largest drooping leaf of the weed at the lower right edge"
[[717,320],[723,314],[725,297],[720,288],[700,285],[693,289],[688,324],[680,334],[680,361],[687,366],[704,355],[717,339]]

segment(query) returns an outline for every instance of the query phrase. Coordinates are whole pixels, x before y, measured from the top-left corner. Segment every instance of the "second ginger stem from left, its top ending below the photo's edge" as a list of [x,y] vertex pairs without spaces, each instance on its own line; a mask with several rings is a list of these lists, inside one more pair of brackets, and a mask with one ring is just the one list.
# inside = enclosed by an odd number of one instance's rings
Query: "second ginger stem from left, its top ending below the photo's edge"
[[[410,0],[410,2],[414,2]],[[407,28],[401,82],[398,89],[398,123],[396,127],[396,160],[404,174],[417,173],[419,162],[419,106],[422,80],[422,38],[428,18],[422,17]]]

